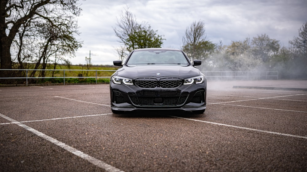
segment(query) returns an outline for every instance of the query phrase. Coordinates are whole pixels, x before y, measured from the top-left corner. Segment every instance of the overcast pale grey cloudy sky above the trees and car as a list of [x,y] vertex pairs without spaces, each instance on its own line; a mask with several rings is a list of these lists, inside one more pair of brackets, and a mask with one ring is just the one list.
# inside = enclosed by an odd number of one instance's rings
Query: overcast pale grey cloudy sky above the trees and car
[[80,0],[77,17],[82,48],[72,64],[86,64],[91,52],[94,65],[112,65],[119,60],[115,49],[121,44],[113,28],[129,8],[140,24],[146,22],[166,39],[162,47],[182,47],[185,29],[204,21],[207,40],[230,45],[231,41],[266,34],[288,47],[307,22],[307,0]]

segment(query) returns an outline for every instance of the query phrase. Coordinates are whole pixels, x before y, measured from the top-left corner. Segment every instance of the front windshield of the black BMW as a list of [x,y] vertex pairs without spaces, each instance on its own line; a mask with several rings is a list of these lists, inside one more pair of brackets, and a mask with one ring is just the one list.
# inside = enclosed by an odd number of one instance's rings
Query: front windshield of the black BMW
[[134,51],[127,64],[188,64],[188,60],[181,51],[142,50]]

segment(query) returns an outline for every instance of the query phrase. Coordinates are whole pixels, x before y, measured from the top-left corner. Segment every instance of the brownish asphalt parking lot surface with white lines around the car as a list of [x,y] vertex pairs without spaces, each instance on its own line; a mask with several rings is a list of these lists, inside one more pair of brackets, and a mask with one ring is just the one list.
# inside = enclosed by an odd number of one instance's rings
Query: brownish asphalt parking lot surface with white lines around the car
[[306,171],[305,89],[209,81],[203,114],[115,115],[108,84],[0,87],[0,171]]

